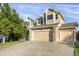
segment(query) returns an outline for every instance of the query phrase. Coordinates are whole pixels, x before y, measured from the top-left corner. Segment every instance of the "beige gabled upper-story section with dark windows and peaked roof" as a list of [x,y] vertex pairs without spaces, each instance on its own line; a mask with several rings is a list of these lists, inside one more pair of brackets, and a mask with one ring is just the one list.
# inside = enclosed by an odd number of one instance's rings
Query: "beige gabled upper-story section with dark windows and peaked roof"
[[46,24],[64,23],[64,17],[60,12],[49,8],[44,12],[44,21]]

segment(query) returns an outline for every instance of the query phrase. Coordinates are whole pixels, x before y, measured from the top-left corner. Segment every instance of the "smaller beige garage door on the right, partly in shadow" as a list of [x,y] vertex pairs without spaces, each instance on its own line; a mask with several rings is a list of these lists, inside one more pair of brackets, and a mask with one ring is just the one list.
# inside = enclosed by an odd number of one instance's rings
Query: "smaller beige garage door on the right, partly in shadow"
[[74,42],[74,31],[73,30],[60,30],[60,41],[73,43]]

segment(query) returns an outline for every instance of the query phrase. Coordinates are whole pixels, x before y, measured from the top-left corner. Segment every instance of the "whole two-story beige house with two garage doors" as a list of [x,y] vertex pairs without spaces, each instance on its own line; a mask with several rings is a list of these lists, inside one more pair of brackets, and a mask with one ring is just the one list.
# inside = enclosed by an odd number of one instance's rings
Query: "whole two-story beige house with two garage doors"
[[30,41],[66,42],[76,41],[77,23],[65,23],[63,14],[47,9],[37,19],[37,26],[29,28]]

